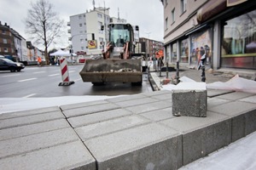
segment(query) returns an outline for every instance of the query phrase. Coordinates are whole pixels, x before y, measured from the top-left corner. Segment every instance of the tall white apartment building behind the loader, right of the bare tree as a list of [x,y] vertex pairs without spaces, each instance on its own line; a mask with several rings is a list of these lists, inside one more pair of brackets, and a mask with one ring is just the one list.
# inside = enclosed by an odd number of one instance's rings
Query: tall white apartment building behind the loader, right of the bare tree
[[[67,26],[71,34],[73,52],[86,54],[101,54],[102,44],[108,42],[109,8],[94,8],[84,14],[70,16]],[[101,26],[105,26],[101,31]],[[94,40],[93,40],[94,39]]]

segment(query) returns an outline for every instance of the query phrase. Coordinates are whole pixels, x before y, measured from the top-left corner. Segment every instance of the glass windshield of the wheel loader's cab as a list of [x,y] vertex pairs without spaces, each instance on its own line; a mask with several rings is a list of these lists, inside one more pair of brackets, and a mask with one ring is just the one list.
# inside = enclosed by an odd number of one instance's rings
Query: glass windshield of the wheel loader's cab
[[113,42],[115,47],[124,47],[125,42],[131,41],[131,26],[130,25],[111,25],[110,41]]

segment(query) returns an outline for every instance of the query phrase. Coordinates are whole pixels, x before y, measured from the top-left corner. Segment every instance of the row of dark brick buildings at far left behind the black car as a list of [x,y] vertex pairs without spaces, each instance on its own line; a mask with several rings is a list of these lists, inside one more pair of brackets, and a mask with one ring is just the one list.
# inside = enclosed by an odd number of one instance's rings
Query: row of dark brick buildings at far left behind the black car
[[0,21],[0,54],[15,61],[26,61],[26,39]]

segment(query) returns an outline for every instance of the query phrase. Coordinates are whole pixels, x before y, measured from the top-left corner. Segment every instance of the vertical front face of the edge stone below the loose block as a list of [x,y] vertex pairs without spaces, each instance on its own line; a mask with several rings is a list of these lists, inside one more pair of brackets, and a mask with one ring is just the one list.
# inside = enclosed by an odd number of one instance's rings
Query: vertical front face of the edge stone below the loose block
[[183,165],[207,156],[231,142],[231,120],[183,134]]

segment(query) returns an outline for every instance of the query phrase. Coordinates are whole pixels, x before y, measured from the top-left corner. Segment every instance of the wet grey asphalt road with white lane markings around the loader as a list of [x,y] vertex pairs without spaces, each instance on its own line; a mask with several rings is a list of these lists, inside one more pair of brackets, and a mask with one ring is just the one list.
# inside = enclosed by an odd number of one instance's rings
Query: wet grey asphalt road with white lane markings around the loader
[[82,95],[122,95],[140,94],[152,91],[147,75],[143,75],[143,86],[131,86],[131,83],[107,83],[93,86],[83,82],[79,76],[83,65],[68,65],[69,78],[75,83],[70,86],[58,86],[61,79],[60,66],[26,66],[20,72],[0,71],[1,98],[39,98]]

